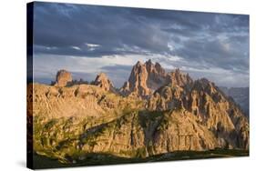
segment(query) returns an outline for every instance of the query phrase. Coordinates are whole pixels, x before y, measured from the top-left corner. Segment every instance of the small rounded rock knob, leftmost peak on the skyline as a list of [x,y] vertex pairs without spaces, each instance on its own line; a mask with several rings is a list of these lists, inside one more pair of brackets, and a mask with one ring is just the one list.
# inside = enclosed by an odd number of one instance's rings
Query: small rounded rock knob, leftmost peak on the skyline
[[56,73],[56,86],[66,86],[68,83],[72,82],[72,75],[67,70],[59,70]]

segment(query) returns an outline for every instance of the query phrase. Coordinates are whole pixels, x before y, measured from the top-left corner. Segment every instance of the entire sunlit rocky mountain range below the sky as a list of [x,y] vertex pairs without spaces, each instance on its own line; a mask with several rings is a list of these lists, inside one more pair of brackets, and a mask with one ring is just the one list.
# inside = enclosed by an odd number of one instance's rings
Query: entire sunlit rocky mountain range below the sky
[[119,89],[104,73],[89,84],[60,70],[53,85],[27,86],[33,151],[76,163],[87,154],[145,158],[177,151],[249,150],[246,110],[230,92],[179,69],[167,72],[151,60],[138,61]]

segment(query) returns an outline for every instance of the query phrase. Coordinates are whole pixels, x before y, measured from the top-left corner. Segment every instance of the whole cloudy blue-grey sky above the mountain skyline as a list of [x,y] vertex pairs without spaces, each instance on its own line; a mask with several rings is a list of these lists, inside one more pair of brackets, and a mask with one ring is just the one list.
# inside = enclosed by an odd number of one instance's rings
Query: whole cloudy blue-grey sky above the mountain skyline
[[104,72],[120,87],[151,59],[193,79],[249,86],[249,38],[249,15],[37,2],[34,81],[49,84],[67,69],[87,81]]

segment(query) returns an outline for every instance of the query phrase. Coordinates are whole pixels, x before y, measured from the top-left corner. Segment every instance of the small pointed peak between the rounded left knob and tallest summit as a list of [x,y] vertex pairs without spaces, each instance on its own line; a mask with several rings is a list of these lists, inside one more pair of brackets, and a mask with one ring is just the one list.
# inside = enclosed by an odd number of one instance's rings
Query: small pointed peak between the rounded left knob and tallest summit
[[106,91],[114,89],[114,85],[108,79],[108,76],[105,73],[100,73],[99,75],[97,75],[94,84],[103,88]]

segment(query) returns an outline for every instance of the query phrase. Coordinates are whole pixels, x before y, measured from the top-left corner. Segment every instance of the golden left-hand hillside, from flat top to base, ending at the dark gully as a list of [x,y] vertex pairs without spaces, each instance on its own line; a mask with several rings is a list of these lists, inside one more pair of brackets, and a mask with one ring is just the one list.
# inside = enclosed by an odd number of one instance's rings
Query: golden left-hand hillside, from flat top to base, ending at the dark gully
[[144,146],[143,131],[133,112],[143,110],[142,101],[107,93],[97,85],[29,87],[27,96],[33,107],[28,113],[34,118],[37,154],[51,154],[67,162],[66,157],[74,153],[81,153],[82,157],[108,150],[120,153],[118,156],[131,156]]

